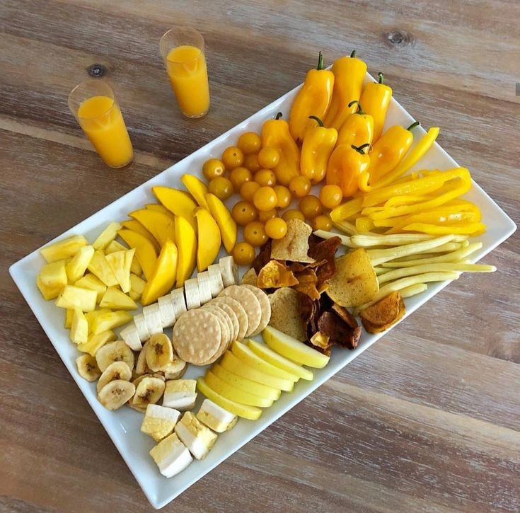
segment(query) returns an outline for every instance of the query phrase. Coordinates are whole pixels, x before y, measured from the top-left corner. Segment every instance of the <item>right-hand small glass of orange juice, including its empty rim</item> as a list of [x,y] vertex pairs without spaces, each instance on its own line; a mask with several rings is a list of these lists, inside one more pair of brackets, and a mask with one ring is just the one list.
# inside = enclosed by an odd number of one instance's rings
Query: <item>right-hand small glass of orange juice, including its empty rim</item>
[[172,28],[161,38],[159,50],[181,112],[202,117],[209,110],[204,39],[193,28]]

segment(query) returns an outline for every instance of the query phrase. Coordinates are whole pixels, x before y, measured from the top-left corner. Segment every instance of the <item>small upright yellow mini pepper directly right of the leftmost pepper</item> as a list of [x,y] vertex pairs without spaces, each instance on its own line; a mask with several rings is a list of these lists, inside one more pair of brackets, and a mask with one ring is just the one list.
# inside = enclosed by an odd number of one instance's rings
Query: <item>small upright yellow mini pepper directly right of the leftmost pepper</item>
[[325,178],[327,164],[337,141],[337,130],[325,128],[323,121],[317,116],[309,116],[316,120],[318,126],[305,132],[304,143],[301,145],[301,174],[315,185]]

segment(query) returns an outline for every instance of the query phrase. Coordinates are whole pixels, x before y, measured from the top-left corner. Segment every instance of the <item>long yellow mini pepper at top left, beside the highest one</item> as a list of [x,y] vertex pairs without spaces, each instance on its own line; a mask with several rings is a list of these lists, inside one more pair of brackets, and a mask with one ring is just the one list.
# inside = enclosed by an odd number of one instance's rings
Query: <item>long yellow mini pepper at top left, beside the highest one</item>
[[334,74],[324,69],[323,55],[318,56],[318,67],[307,72],[304,85],[298,91],[289,114],[289,132],[296,142],[304,140],[306,129],[314,124],[308,117],[325,117],[333,98]]

